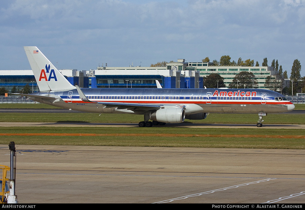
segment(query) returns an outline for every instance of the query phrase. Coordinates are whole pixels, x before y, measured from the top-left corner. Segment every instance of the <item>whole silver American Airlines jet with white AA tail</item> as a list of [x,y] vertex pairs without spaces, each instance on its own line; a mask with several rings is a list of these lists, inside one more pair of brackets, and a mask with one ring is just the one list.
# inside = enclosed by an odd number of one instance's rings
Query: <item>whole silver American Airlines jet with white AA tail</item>
[[[289,112],[294,105],[282,94],[263,89],[79,88],[73,86],[37,47],[24,47],[40,92],[20,94],[65,109],[143,115],[140,127],[205,119],[210,112]],[[149,121],[149,120],[152,120]]]

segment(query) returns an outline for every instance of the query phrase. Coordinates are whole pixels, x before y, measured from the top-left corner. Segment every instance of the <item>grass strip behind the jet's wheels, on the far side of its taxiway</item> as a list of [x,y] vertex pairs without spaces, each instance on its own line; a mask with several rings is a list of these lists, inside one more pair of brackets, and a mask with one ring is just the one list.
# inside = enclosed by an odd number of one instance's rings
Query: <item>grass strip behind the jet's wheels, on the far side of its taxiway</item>
[[[203,120],[185,119],[185,123],[229,123],[256,124],[258,114],[221,114],[210,113]],[[263,117],[264,124],[305,124],[305,114],[268,114]],[[101,114],[98,113],[2,113],[0,122],[68,122],[84,121],[89,123],[138,123],[143,121],[142,115]]]

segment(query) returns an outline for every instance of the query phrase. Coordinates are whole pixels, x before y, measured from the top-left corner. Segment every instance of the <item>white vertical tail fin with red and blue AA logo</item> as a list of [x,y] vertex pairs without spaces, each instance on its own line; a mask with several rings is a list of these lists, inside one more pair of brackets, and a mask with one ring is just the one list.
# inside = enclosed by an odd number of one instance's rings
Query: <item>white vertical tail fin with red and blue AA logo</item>
[[37,47],[24,47],[40,91],[75,89]]

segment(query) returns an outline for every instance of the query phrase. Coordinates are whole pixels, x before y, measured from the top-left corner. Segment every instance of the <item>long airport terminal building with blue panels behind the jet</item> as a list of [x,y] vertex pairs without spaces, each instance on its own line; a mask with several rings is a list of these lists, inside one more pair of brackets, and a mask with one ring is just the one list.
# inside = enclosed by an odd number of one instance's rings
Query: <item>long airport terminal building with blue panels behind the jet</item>
[[[249,71],[257,79],[255,88],[265,89],[267,76],[276,75],[271,66],[214,66],[212,62],[177,62],[167,63],[164,67],[97,67],[96,70],[77,71],[77,69],[59,70],[68,81],[80,87],[91,88],[156,88],[158,80],[163,88],[204,88],[203,77],[217,73],[224,78],[228,87],[235,75]],[[0,70],[0,88],[5,87],[10,93],[15,86],[22,90],[29,85],[32,91],[39,91],[32,70]]]

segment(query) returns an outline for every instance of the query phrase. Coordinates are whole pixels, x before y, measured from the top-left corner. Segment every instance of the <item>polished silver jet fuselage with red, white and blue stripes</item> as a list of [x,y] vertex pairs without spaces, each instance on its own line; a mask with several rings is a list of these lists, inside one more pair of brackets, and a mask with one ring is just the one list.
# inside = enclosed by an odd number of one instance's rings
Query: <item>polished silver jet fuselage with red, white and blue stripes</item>
[[35,101],[83,112],[143,114],[152,110],[116,105],[103,105],[102,102],[132,104],[156,104],[164,107],[185,107],[186,115],[199,112],[231,113],[278,113],[291,111],[294,105],[274,91],[263,89],[156,89],[156,88],[81,88],[90,101],[81,100],[78,91],[38,92],[35,95],[57,97],[52,102],[38,98]]

